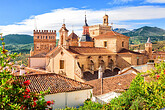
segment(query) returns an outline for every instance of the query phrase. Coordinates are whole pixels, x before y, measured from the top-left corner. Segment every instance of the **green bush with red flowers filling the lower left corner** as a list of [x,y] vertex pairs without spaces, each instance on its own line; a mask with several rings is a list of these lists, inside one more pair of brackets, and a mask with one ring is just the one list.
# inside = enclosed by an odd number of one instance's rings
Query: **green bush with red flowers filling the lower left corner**
[[[3,41],[3,39],[1,39]],[[4,45],[4,43],[2,43]],[[42,93],[30,92],[30,81],[22,81],[22,77],[16,77],[12,73],[17,53],[9,54],[0,47],[0,110],[44,110],[49,109],[52,101],[45,101]],[[50,108],[51,109],[51,108]]]

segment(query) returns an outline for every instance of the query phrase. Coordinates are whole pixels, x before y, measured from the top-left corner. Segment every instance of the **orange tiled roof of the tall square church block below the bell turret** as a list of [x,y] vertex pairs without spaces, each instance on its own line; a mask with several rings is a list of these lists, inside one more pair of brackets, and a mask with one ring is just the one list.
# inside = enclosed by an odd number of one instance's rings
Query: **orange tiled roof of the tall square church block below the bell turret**
[[128,37],[128,36],[125,36],[123,34],[117,33],[115,31],[108,31],[105,34],[98,35],[98,36],[96,36],[94,38],[101,39],[101,38],[116,37],[116,36]]

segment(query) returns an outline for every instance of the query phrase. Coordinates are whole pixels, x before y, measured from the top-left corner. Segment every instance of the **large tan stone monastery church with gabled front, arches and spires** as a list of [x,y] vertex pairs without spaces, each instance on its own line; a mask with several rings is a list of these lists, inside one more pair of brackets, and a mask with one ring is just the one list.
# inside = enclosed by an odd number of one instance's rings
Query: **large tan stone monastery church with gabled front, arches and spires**
[[88,26],[85,16],[80,39],[74,31],[70,35],[68,32],[63,24],[59,30],[58,46],[52,40],[52,48],[49,46],[46,51],[37,51],[35,45],[39,44],[34,42],[34,51],[31,53],[36,54],[29,57],[29,67],[42,68],[79,81],[89,81],[98,78],[99,67],[104,70],[103,77],[108,77],[131,65],[147,62],[145,54],[129,50],[128,36],[112,30],[108,15],[103,17],[103,24],[94,26]]

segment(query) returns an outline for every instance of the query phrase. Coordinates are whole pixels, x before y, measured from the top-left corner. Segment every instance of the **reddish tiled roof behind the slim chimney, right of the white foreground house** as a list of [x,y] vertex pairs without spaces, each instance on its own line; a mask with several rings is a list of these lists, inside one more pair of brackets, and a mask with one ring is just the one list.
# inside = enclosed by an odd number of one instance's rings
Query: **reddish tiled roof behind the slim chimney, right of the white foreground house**
[[[103,78],[103,94],[118,89],[120,90],[128,89],[135,76],[136,76],[135,74],[131,73],[131,74],[116,75],[109,78]],[[93,88],[94,95],[101,95],[101,79],[87,81],[86,83],[94,87]]]

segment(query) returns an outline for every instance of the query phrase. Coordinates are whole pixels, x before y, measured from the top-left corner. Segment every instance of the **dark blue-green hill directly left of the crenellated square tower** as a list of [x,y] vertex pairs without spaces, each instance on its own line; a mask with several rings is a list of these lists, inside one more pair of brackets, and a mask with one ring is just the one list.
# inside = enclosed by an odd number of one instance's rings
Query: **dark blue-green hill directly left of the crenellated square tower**
[[33,43],[33,36],[23,34],[9,34],[3,36],[6,44],[29,44]]

